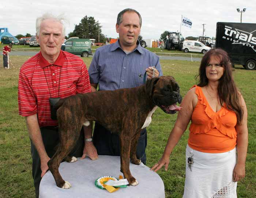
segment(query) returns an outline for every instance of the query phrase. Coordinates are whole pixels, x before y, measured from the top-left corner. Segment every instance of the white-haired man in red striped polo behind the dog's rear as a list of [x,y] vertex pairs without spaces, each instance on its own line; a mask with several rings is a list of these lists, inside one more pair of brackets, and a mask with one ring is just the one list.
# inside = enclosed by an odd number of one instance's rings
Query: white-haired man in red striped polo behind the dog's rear
[[[32,174],[35,194],[39,197],[41,177],[59,142],[58,122],[51,118],[49,98],[65,98],[91,92],[86,65],[78,56],[61,50],[65,38],[63,16],[44,14],[36,20],[36,35],[41,51],[20,68],[19,114],[25,117],[31,140]],[[81,130],[72,156],[97,159],[91,128]],[[89,139],[89,140],[87,140]],[[91,145],[92,144],[92,145]]]

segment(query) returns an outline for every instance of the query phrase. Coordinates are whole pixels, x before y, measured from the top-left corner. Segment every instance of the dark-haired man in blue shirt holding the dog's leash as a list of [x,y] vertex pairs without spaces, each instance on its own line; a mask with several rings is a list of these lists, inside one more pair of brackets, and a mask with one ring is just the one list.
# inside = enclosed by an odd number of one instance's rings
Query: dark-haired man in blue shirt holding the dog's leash
[[[159,57],[140,46],[138,36],[142,18],[134,9],[124,9],[117,16],[116,43],[99,47],[89,68],[91,90],[117,90],[137,87],[147,78],[162,76]],[[153,67],[153,68],[152,68]],[[154,68],[155,67],[155,68]],[[114,104],[113,104],[114,108]],[[99,123],[95,123],[93,143],[98,155],[120,156],[120,143],[117,134],[112,134]],[[147,131],[143,129],[136,155],[146,164]]]

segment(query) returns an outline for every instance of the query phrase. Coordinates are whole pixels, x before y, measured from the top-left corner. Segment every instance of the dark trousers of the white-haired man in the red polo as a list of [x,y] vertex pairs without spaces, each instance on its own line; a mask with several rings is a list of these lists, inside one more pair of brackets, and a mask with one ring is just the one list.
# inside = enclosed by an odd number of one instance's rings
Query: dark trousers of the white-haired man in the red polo
[[[59,130],[57,127],[41,127],[41,134],[42,139],[44,142],[45,150],[47,155],[51,158],[55,151],[56,146],[59,143]],[[32,157],[32,175],[34,179],[34,186],[35,186],[35,197],[39,197],[39,185],[41,182],[41,162],[40,158],[37,152],[37,149],[35,149],[35,146],[33,142],[30,140],[31,145],[31,157]],[[84,133],[83,130],[81,130],[81,134],[79,137],[78,142],[75,145],[75,148],[72,150],[72,152],[69,154],[71,156],[75,157],[81,157],[83,155],[83,148],[84,148]]]

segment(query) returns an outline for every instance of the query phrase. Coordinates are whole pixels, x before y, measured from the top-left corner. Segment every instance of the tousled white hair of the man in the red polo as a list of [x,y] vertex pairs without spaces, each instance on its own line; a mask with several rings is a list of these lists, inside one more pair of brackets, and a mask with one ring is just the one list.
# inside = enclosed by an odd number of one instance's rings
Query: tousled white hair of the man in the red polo
[[59,16],[55,16],[51,13],[45,13],[42,16],[39,16],[35,22],[35,31],[37,36],[39,36],[40,33],[40,27],[41,27],[41,23],[46,20],[46,19],[53,19],[56,20],[57,22],[60,22],[60,24],[62,25],[62,34],[63,37],[65,37],[66,35],[66,28],[64,23],[69,24],[69,20],[67,18],[65,18],[64,14],[61,14]]

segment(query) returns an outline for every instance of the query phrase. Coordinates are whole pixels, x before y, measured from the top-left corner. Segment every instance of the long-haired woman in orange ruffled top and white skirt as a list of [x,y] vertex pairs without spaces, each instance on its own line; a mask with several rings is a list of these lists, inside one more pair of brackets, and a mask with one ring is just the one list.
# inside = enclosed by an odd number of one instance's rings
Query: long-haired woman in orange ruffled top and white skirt
[[162,158],[151,170],[167,170],[169,156],[189,127],[183,198],[235,198],[245,176],[248,145],[247,110],[222,49],[202,58],[199,83],[184,97]]

